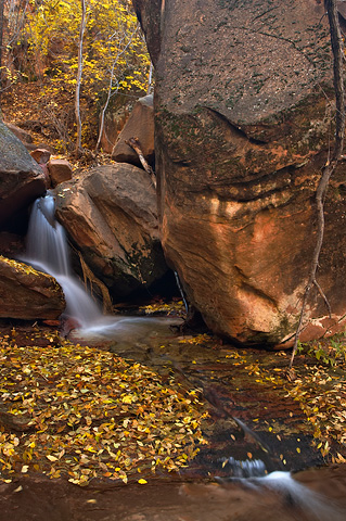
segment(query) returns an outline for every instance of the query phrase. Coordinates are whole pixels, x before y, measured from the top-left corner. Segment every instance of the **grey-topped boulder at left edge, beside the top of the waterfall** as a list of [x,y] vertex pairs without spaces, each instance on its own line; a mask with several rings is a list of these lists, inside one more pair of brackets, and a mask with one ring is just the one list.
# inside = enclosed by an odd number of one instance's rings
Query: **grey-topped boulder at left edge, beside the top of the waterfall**
[[0,122],[0,227],[46,191],[42,169]]

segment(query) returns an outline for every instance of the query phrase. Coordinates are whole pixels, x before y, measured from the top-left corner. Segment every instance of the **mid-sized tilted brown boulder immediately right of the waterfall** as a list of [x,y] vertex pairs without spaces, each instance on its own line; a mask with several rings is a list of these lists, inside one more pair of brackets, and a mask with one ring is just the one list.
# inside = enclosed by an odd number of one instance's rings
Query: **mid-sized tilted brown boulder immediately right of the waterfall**
[[57,187],[57,218],[114,300],[167,271],[156,213],[150,177],[132,165],[93,168]]

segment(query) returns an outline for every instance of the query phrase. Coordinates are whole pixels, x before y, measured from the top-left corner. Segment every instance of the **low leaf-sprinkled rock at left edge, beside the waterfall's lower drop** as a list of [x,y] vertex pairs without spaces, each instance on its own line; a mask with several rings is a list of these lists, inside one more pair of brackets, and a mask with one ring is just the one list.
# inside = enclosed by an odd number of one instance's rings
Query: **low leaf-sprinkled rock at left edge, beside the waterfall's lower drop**
[[65,300],[56,280],[26,264],[0,256],[0,317],[56,319]]

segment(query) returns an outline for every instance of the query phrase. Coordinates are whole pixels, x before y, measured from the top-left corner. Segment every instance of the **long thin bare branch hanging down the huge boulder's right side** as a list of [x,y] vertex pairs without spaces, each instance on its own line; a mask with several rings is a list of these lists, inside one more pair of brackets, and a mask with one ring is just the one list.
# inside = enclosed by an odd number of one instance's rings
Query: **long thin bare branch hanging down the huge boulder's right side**
[[[295,354],[298,347],[299,334],[302,332],[303,320],[305,316],[305,308],[308,300],[309,292],[315,285],[320,294],[322,295],[324,302],[328,303],[328,300],[316,280],[316,274],[319,267],[319,257],[321,247],[323,244],[324,236],[324,196],[329,186],[330,178],[335,170],[337,163],[343,158],[343,147],[344,147],[344,136],[345,136],[345,90],[344,90],[344,74],[343,74],[343,61],[344,61],[344,45],[342,33],[338,23],[338,14],[336,0],[325,0],[325,8],[329,17],[330,33],[331,33],[331,43],[334,61],[334,90],[335,90],[335,104],[336,104],[336,114],[335,114],[335,142],[334,151],[331,157],[328,158],[328,162],[322,170],[321,179],[316,191],[316,209],[317,209],[317,243],[315,246],[311,267],[309,272],[308,283],[305,288],[302,312],[299,316],[299,321],[297,330],[295,333],[294,345],[292,357],[289,366],[289,378],[293,379],[293,361]],[[328,308],[331,314],[331,309],[328,303]]]

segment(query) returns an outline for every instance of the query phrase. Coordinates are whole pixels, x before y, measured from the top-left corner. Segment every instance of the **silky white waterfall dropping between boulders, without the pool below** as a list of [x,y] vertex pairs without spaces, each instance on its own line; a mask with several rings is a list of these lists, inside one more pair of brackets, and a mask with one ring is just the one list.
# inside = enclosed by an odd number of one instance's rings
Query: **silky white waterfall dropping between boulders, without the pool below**
[[102,319],[99,305],[73,275],[64,228],[55,220],[55,200],[51,191],[35,201],[27,233],[26,255],[22,260],[52,275],[66,300],[64,315],[80,328]]

